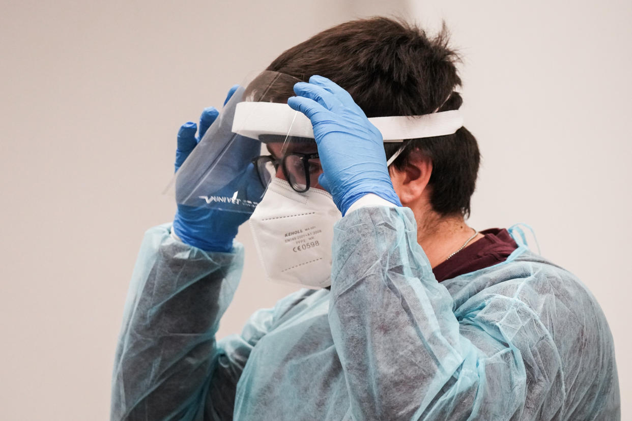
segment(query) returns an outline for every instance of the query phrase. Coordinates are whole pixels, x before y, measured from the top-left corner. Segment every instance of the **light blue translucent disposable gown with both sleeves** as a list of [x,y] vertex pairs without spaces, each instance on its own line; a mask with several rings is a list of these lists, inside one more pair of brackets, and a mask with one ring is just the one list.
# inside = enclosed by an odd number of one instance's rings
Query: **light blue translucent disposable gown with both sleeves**
[[516,240],[507,261],[438,283],[408,208],[361,208],[335,227],[331,292],[300,290],[216,341],[242,247],[207,253],[152,228],[112,419],[618,420],[599,305]]

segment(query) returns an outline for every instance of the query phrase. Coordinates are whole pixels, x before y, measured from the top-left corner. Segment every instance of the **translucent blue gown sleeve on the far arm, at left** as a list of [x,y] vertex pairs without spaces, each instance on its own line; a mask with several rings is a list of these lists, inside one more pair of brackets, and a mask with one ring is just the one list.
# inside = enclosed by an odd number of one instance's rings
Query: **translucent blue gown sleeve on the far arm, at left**
[[112,420],[228,420],[250,350],[267,332],[270,310],[241,335],[216,341],[233,299],[243,249],[207,253],[150,229],[133,272],[112,376]]

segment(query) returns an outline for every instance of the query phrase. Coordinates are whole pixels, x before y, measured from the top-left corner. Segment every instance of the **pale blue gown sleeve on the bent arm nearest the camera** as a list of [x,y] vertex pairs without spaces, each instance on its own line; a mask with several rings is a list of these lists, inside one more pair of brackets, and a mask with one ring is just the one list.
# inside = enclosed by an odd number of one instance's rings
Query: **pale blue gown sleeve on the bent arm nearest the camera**
[[334,229],[329,323],[345,419],[555,418],[561,364],[532,309],[486,297],[457,319],[408,208],[361,208]]

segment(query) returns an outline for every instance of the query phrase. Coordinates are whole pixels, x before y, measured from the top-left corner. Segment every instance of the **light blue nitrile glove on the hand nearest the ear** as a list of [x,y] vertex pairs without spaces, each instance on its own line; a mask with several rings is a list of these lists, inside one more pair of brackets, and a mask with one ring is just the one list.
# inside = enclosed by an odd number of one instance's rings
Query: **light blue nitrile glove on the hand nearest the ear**
[[296,83],[294,92],[288,105],[312,121],[323,169],[319,184],[343,215],[368,193],[401,206],[386,167],[382,134],[351,95],[322,76]]

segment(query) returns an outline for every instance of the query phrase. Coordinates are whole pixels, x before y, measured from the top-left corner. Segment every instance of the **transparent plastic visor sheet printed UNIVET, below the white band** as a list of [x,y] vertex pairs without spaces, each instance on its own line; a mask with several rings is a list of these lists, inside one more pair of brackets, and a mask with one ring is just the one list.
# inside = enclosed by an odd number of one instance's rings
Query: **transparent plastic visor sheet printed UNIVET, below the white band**
[[[256,126],[255,121],[262,118],[254,103],[276,102],[289,108],[287,100],[294,94],[293,86],[298,81],[287,74],[264,71],[250,83],[241,85],[168,187],[175,194],[176,203],[250,214],[277,175],[303,189],[314,186],[318,175],[313,179],[312,174],[320,162],[306,157],[304,151],[315,154],[316,143],[314,139],[289,136],[294,117],[276,124],[272,134],[237,133],[238,127]],[[254,107],[240,107],[243,103]],[[293,112],[292,116],[295,115]],[[294,150],[296,153],[291,153]],[[306,167],[310,172],[305,171]]]

